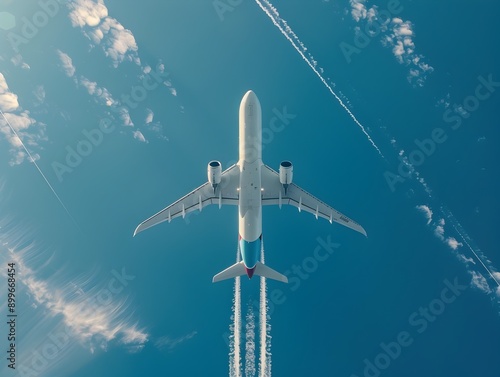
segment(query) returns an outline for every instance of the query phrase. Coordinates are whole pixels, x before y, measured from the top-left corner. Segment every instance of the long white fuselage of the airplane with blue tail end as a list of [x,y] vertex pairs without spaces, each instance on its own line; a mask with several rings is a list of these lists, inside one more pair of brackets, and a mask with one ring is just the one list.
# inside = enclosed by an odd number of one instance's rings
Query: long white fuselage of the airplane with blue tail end
[[239,132],[240,249],[245,266],[252,269],[260,259],[262,236],[262,111],[259,99],[252,91],[248,91],[241,100]]

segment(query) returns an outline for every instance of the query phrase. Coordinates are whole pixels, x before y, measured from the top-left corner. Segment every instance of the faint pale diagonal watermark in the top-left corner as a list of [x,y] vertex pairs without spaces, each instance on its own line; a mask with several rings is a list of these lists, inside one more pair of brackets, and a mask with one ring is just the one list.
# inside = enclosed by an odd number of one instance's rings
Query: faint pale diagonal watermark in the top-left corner
[[[60,10],[60,5],[68,0],[39,0],[38,10],[31,16],[23,16],[20,21],[8,12],[0,13],[0,29],[8,31],[7,40],[14,51],[19,52],[19,47],[29,43],[37,36],[41,29],[46,27]],[[13,30],[19,25],[19,30]]]

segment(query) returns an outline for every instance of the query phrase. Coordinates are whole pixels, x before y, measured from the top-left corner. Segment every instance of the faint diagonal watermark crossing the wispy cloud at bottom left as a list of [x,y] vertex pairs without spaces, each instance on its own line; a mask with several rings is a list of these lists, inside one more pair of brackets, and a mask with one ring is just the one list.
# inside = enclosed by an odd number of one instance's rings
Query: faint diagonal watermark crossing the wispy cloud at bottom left
[[[105,288],[100,289],[95,295],[89,297],[82,303],[87,313],[101,310],[112,304],[113,298],[120,294],[129,283],[135,279],[135,276],[127,274],[125,268],[121,272],[111,271],[113,277],[109,279]],[[82,313],[83,315],[83,313]],[[50,364],[56,359],[64,356],[74,337],[73,331],[67,325],[59,331],[52,331],[47,335],[45,342],[38,346],[30,356],[26,358],[18,367],[21,377],[37,377],[45,373]]]

